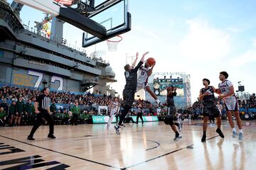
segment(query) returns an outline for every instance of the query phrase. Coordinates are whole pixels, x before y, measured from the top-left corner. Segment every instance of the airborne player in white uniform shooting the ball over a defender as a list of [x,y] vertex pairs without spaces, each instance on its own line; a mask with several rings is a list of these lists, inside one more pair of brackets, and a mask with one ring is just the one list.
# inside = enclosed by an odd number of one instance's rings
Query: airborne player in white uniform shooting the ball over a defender
[[[135,66],[137,60],[138,60],[139,54],[136,54],[136,60],[132,64],[132,67]],[[151,76],[154,66],[156,63],[153,65],[149,65],[147,62],[145,62],[144,66],[139,68],[139,73],[138,73],[138,80],[137,80],[137,91],[140,91],[144,89],[145,91],[148,91],[149,94],[155,99],[156,103],[160,103],[159,99],[156,97],[156,94],[154,94],[153,91],[151,91],[149,84],[148,84],[148,78]],[[151,68],[150,68],[151,67]]]

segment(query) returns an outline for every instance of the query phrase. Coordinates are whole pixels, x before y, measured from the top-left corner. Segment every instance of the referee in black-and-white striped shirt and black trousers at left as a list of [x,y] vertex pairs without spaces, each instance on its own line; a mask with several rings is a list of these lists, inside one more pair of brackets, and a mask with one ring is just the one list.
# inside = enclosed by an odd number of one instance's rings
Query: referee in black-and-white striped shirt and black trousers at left
[[36,98],[36,102],[35,102],[36,121],[33,125],[30,135],[28,135],[28,138],[27,138],[28,140],[35,140],[33,138],[33,134],[39,128],[43,119],[45,119],[49,123],[50,130],[49,130],[48,137],[51,139],[56,138],[53,135],[54,120],[50,116],[50,97],[48,97],[49,94],[50,94],[50,90],[49,88],[46,87],[43,89],[43,94],[41,94],[40,96],[38,96],[38,98]]

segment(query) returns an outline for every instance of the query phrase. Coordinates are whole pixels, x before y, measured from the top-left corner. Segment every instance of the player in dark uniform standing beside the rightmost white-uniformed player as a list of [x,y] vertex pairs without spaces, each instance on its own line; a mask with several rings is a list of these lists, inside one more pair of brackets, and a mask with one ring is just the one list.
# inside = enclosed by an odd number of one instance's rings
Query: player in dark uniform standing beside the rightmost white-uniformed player
[[217,120],[217,130],[216,132],[220,137],[224,138],[223,132],[220,130],[221,126],[221,119],[220,119],[220,112],[215,104],[215,96],[214,96],[214,87],[209,86],[210,80],[203,79],[203,89],[200,90],[199,99],[203,101],[203,137],[202,142],[206,142],[206,130],[208,126],[208,119],[209,117],[214,117]]

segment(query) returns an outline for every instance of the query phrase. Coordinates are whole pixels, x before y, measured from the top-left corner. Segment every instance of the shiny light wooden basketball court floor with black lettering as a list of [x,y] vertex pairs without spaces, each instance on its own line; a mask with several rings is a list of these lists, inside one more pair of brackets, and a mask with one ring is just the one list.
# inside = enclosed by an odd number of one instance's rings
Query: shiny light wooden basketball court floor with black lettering
[[163,122],[126,124],[121,135],[113,125],[56,125],[57,139],[47,139],[41,126],[35,141],[26,137],[32,127],[0,128],[0,169],[255,169],[256,121],[244,121],[244,139],[233,138],[223,121],[222,140],[208,126],[201,143],[201,121],[186,121],[174,142]]

